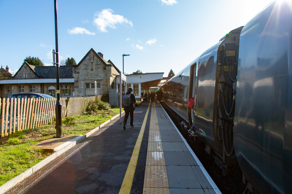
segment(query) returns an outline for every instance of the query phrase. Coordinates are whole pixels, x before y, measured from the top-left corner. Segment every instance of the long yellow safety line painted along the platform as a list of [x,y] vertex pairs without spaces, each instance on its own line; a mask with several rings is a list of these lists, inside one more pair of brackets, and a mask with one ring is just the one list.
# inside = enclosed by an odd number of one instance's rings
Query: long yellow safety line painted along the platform
[[149,108],[150,108],[150,102],[148,105],[148,109],[142,124],[142,127],[140,129],[140,133],[139,136],[137,138],[134,150],[133,150],[133,154],[131,157],[131,160],[129,162],[125,177],[124,177],[124,181],[122,183],[121,189],[119,194],[129,194],[132,188],[132,184],[133,184],[133,178],[135,175],[135,170],[136,170],[136,165],[137,165],[137,161],[138,161],[138,156],[139,156],[139,152],[140,152],[140,147],[141,147],[141,143],[142,143],[142,138],[144,135],[144,131],[145,131],[145,126],[146,126],[146,121],[147,121],[147,117],[148,117],[148,113],[149,113]]

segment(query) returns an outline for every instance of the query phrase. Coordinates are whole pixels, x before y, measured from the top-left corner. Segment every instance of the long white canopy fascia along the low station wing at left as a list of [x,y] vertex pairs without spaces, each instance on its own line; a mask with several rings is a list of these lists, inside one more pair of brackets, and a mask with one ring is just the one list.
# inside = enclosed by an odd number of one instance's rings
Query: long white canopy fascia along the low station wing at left
[[[59,79],[60,83],[74,83],[74,78]],[[56,79],[4,79],[0,80],[0,84],[13,83],[57,83]]]

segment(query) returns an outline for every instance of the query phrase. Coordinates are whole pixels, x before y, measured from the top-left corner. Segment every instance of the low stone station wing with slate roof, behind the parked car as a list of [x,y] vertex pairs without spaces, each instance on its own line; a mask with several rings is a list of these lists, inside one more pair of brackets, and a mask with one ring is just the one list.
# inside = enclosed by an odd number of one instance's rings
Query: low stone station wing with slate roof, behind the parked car
[[[61,97],[72,97],[74,95],[72,67],[60,66],[59,75]],[[55,97],[56,90],[55,66],[33,66],[25,62],[10,79],[0,80],[1,98],[18,93],[43,93]]]

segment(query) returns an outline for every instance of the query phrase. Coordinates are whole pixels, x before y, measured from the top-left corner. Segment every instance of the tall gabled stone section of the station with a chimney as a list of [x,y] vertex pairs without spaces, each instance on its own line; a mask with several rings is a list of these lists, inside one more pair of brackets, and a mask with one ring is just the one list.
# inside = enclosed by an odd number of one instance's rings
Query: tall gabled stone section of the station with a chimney
[[73,66],[75,96],[108,94],[109,89],[116,88],[116,76],[119,69],[110,61],[103,59],[102,53],[96,53],[92,48],[83,59]]

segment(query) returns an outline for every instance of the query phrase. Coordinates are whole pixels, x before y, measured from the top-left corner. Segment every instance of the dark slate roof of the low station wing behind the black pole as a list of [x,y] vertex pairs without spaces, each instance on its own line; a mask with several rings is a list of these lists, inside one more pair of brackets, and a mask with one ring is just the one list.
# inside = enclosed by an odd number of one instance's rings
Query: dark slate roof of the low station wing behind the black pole
[[[39,72],[39,75],[43,76],[44,79],[56,78],[56,67],[55,66],[37,66],[35,67]],[[72,66],[60,66],[59,76],[62,78],[74,78]]]

